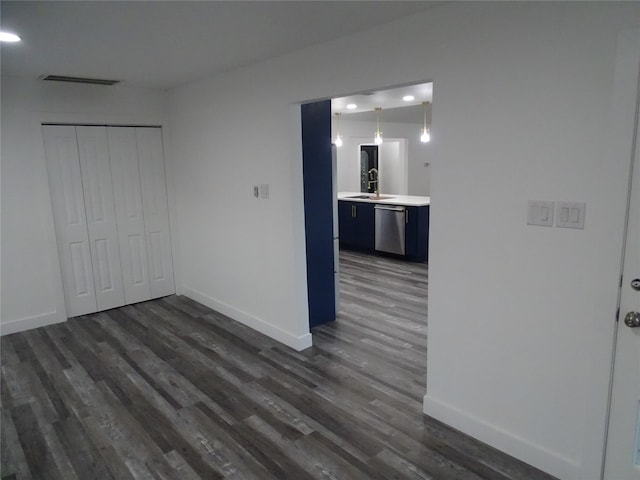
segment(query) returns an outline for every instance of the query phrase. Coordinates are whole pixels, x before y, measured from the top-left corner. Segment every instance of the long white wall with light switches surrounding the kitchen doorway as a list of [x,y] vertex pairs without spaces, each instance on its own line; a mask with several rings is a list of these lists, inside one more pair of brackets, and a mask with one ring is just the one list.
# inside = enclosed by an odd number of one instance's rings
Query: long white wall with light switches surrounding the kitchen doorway
[[[629,162],[602,131],[639,23],[632,3],[454,2],[176,89],[185,292],[304,344],[296,104],[433,80],[425,411],[597,478]],[[529,199],[586,202],[586,228],[528,227]]]

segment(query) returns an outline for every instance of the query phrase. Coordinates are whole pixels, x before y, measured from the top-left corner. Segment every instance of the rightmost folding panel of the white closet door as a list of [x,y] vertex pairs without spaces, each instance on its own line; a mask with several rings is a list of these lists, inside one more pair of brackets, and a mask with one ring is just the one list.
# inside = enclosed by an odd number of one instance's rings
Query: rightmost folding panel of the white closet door
[[136,128],[151,296],[175,293],[160,128]]

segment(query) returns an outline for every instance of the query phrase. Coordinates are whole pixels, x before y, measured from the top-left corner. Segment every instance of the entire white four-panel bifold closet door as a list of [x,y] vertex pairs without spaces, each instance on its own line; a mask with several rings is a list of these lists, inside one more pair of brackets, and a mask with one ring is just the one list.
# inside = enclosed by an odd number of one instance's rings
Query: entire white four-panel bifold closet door
[[43,126],[69,316],[175,293],[159,128]]

